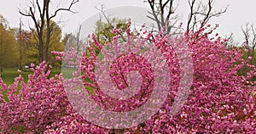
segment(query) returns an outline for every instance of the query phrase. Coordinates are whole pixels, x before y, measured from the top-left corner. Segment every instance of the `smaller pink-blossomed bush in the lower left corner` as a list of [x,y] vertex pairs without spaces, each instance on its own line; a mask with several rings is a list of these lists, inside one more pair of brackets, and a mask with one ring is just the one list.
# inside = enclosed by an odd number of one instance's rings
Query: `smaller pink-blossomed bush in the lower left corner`
[[[21,75],[14,84],[7,87],[0,78],[0,89],[6,98],[0,96],[0,129],[4,133],[37,133],[72,113],[65,94],[62,76],[49,77],[50,66],[43,62],[28,76],[27,83]],[[47,70],[47,68],[49,70]]]

